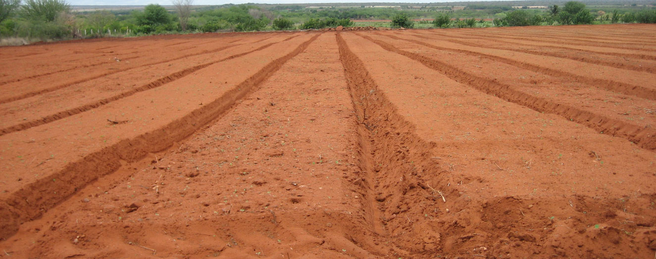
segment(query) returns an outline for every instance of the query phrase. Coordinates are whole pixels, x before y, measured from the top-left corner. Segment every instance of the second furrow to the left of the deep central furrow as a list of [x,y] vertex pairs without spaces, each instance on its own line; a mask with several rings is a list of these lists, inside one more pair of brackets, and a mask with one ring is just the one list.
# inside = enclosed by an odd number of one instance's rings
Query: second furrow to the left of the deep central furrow
[[127,96],[131,96],[133,94],[136,94],[137,92],[143,92],[145,90],[150,90],[150,89],[154,89],[154,88],[157,88],[157,87],[161,87],[162,85],[165,85],[166,83],[171,83],[171,82],[173,82],[177,79],[180,79],[180,78],[182,78],[186,75],[189,75],[190,73],[194,73],[195,71],[201,70],[203,68],[207,68],[208,66],[211,66],[213,64],[216,64],[216,63],[219,63],[219,62],[224,62],[226,60],[231,60],[233,58],[239,58],[240,56],[244,56],[246,54],[249,54],[249,53],[252,53],[252,52],[255,52],[255,51],[258,51],[258,50],[266,49],[266,48],[268,48],[268,47],[270,47],[271,45],[274,45],[274,44],[276,44],[276,43],[269,43],[269,44],[264,45],[262,47],[259,47],[257,49],[249,50],[247,52],[241,52],[239,54],[234,54],[232,56],[228,56],[227,58],[222,58],[221,60],[216,60],[216,61],[213,61],[213,62],[207,62],[205,64],[200,64],[200,65],[197,65],[197,66],[193,66],[192,68],[187,68],[186,70],[177,71],[175,73],[172,73],[171,75],[161,77],[160,79],[152,81],[152,82],[150,82],[146,85],[142,85],[140,87],[129,90],[127,92],[122,92],[121,94],[116,94],[115,96],[111,96],[111,97],[108,97],[108,98],[104,98],[102,100],[98,100],[98,101],[93,102],[91,104],[85,104],[83,106],[71,108],[71,109],[66,110],[66,111],[60,111],[58,113],[47,115],[45,117],[42,117],[41,119],[37,119],[37,120],[34,120],[34,121],[28,121],[28,122],[25,122],[25,123],[20,123],[18,125],[13,125],[11,127],[7,127],[5,129],[0,129],[0,136],[2,136],[4,134],[9,134],[11,132],[16,132],[16,131],[19,131],[19,130],[30,129],[31,127],[37,127],[39,125],[44,125],[46,123],[51,123],[52,121],[57,121],[59,119],[64,119],[66,117],[70,117],[70,116],[75,115],[77,113],[82,113],[84,111],[89,111],[89,110],[92,110],[94,108],[104,106],[105,104],[109,104],[110,102],[113,102],[115,100],[120,100],[120,99],[125,98]]

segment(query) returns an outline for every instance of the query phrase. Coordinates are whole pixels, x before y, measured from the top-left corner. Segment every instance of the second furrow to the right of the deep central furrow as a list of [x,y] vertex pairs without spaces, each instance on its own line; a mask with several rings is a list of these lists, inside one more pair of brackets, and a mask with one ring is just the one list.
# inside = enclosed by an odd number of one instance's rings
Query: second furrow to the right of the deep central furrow
[[[525,70],[529,71],[534,71],[537,73],[544,73],[546,75],[551,75],[554,77],[569,77],[573,81],[585,83],[587,85],[592,85],[594,87],[602,87],[606,90],[611,90],[613,92],[619,92],[622,94],[630,94],[630,95],[635,95],[640,98],[647,98],[650,100],[656,100],[656,90],[655,89],[647,89],[645,87],[640,87],[638,85],[630,85],[627,83],[622,83],[618,81],[611,81],[611,80],[606,80],[606,79],[598,79],[594,77],[586,77],[583,75],[576,75],[574,73],[569,73],[566,71],[562,70],[554,70],[552,68],[545,68],[543,66],[536,66],[533,64],[528,64],[525,62],[519,62],[516,60],[512,60],[510,58],[503,58],[501,56],[493,56],[490,54],[484,54],[481,52],[476,52],[476,51],[471,51],[471,50],[462,50],[462,49],[453,49],[453,48],[447,48],[447,47],[438,47],[436,45],[432,45],[430,43],[424,43],[422,41],[417,41],[413,39],[403,39],[401,37],[396,37],[394,35],[385,35],[387,37],[390,37],[392,39],[399,39],[403,41],[409,41],[411,43],[416,43],[419,45],[423,45],[426,47],[430,47],[431,49],[438,49],[438,50],[446,50],[446,51],[453,51],[453,52],[459,52],[462,54],[468,54],[472,56],[482,56],[483,58],[487,58],[489,60],[494,60],[497,62],[502,62],[505,64],[509,64],[512,66],[516,66],[518,68],[523,68]],[[513,50],[514,51],[514,50]]]

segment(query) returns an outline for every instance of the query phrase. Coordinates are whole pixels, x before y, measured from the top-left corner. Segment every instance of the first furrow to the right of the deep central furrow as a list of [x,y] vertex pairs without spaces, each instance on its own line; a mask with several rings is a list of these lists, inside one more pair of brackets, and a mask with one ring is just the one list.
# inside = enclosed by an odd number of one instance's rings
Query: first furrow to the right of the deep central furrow
[[[356,34],[360,35],[359,33]],[[573,106],[544,100],[543,98],[538,98],[537,96],[513,89],[513,87],[505,83],[492,81],[485,79],[484,77],[478,77],[466,71],[459,70],[458,68],[445,62],[441,62],[440,60],[435,60],[421,54],[398,49],[390,43],[386,43],[378,39],[373,39],[367,35],[360,36],[369,41],[372,41],[373,43],[376,43],[385,50],[396,52],[413,60],[417,60],[417,62],[420,62],[428,68],[439,71],[443,75],[447,75],[447,77],[455,81],[473,87],[474,89],[478,89],[487,94],[497,96],[508,102],[526,106],[536,111],[561,115],[566,119],[581,123],[582,125],[590,127],[591,129],[594,129],[602,134],[626,138],[626,140],[629,140],[630,142],[633,142],[645,149],[656,149],[656,130],[652,130],[651,128],[639,127],[637,125],[632,125],[623,121],[611,119],[604,115],[581,110]]]

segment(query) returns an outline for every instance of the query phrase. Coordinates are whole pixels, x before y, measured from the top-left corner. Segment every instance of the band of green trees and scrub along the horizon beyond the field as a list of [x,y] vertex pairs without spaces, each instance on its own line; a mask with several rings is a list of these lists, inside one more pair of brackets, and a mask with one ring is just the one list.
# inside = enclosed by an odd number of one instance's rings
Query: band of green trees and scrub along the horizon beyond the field
[[460,7],[453,3],[422,4],[420,7],[408,4],[391,8],[254,4],[194,7],[192,0],[173,0],[169,9],[148,5],[142,10],[74,12],[65,0],[23,0],[22,3],[21,0],[0,0],[0,37],[35,41],[107,37],[110,34],[308,30],[337,26],[473,28],[656,23],[654,5],[586,6],[569,1],[562,7],[550,5],[535,9],[511,7],[505,5],[507,3],[512,2],[472,3]]

